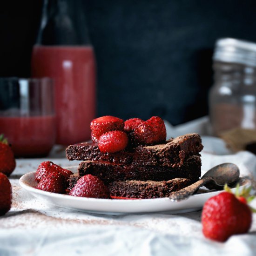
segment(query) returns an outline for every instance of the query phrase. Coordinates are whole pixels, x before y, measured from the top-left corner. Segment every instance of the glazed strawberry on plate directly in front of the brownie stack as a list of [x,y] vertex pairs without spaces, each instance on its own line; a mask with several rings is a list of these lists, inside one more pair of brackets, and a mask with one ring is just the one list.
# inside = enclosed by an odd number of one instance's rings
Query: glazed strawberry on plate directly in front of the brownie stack
[[110,198],[108,187],[96,176],[91,174],[82,176],[70,190],[69,195]]

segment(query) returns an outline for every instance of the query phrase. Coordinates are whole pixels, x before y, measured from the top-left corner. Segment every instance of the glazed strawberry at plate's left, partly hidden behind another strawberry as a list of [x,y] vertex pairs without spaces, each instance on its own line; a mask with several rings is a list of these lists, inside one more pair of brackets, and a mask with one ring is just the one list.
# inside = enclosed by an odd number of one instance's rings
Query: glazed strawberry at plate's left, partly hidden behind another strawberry
[[53,162],[41,162],[35,173],[36,182],[40,182],[42,177],[46,176],[49,172],[52,171],[58,171],[59,173],[61,173],[66,181],[69,179],[69,176],[73,174],[72,171],[61,168],[59,165],[54,164]]

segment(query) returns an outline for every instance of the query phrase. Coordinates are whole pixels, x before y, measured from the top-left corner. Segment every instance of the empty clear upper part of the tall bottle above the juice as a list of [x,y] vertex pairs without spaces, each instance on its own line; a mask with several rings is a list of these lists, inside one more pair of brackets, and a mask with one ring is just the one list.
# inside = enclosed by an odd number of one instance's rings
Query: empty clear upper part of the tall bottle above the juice
[[90,45],[80,0],[44,0],[37,44]]

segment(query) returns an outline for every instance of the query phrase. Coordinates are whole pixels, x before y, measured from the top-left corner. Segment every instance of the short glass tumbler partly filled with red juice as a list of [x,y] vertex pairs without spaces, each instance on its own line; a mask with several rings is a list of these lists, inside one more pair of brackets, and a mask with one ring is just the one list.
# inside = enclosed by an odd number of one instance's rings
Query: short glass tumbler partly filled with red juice
[[54,85],[50,78],[0,78],[0,134],[15,157],[46,156],[55,143]]

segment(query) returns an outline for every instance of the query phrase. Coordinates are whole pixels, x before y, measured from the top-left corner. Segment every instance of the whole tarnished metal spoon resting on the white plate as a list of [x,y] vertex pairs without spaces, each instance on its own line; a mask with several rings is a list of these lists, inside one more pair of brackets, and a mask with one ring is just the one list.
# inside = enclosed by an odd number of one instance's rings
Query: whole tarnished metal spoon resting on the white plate
[[193,195],[197,189],[208,182],[215,182],[218,187],[223,187],[226,183],[232,184],[238,181],[239,168],[234,163],[222,163],[209,169],[201,180],[194,184],[176,191],[169,196],[169,199],[173,202],[182,201],[187,199],[190,195]]

